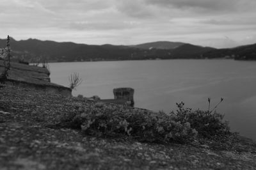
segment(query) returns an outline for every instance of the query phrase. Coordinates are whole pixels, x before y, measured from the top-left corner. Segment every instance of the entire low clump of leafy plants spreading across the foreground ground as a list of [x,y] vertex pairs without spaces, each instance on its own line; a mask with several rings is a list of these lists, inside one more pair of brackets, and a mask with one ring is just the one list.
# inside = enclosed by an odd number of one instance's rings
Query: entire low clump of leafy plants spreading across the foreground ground
[[109,137],[131,137],[144,142],[190,143],[196,137],[227,135],[229,127],[217,112],[192,111],[184,103],[177,111],[166,114],[122,105],[92,102],[77,105],[76,113],[61,116],[63,125],[81,128],[85,134]]

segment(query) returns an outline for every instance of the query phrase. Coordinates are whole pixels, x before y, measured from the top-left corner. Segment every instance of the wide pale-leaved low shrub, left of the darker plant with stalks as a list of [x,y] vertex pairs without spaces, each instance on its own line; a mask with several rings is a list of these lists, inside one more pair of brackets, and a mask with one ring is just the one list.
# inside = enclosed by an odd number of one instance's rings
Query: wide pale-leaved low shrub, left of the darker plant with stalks
[[[127,136],[156,143],[187,143],[197,135],[189,122],[175,121],[165,113],[125,109],[101,102],[81,106],[77,110],[72,118],[72,127],[81,126],[83,132],[90,135]],[[70,116],[65,116],[70,120]]]

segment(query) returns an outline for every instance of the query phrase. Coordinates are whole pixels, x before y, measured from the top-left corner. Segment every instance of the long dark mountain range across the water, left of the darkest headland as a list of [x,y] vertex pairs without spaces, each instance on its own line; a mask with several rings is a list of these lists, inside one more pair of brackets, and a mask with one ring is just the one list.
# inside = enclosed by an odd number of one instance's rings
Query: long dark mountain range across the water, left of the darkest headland
[[[0,39],[0,47],[6,40]],[[36,39],[10,41],[12,56],[16,60],[61,62],[134,59],[204,58],[205,52],[216,50],[189,43],[152,42],[143,45],[87,45],[73,42],[53,42]],[[152,48],[148,48],[148,47]],[[143,49],[145,47],[145,49]]]

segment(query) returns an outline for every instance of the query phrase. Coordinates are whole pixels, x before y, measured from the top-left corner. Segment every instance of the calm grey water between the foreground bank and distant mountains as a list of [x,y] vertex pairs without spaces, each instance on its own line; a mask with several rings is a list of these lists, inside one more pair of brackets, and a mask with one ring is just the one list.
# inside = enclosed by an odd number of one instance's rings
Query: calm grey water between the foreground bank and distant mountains
[[77,72],[83,83],[73,95],[113,98],[113,88],[134,88],[136,107],[176,109],[183,101],[192,109],[207,109],[223,97],[217,108],[233,131],[256,139],[256,62],[233,60],[159,60],[51,63],[51,81],[68,86]]

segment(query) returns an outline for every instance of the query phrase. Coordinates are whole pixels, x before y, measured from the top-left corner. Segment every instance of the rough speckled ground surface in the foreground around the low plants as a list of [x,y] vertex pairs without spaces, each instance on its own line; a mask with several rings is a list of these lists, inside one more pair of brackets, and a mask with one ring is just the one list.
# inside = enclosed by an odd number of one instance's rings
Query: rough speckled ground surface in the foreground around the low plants
[[92,102],[0,86],[0,169],[256,169],[256,144],[235,134],[150,144],[54,127],[61,115]]

